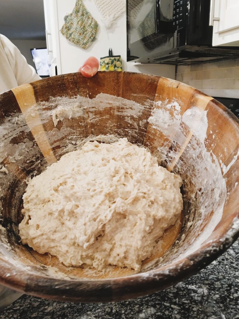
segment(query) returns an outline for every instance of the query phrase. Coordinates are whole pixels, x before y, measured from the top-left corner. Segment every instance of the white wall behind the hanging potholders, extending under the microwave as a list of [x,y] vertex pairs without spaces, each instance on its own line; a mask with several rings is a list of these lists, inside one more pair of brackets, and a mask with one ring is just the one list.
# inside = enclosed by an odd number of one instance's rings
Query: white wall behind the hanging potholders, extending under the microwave
[[[57,0],[58,30],[64,23],[64,16],[71,13],[75,0]],[[175,79],[175,66],[162,64],[137,64],[127,61],[127,38],[126,38],[126,13],[121,15],[109,29],[104,29],[101,17],[93,0],[84,0],[87,10],[99,24],[96,39],[90,47],[82,49],[69,42],[60,32],[60,55],[62,73],[76,72],[79,66],[89,57],[95,56],[98,59],[107,56],[109,48],[112,48],[114,55],[121,55],[123,60],[123,70],[132,72],[142,72],[160,75]],[[110,5],[110,1],[109,1]],[[117,8],[112,8],[117,10]]]

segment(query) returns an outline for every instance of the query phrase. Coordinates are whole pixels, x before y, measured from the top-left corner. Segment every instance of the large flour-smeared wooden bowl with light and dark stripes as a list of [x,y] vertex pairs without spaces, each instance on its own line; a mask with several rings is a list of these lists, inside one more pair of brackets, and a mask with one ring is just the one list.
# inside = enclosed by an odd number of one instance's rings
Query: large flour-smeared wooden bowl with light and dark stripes
[[[78,97],[77,97],[78,96]],[[37,105],[36,105],[37,104]],[[205,267],[239,234],[239,121],[177,81],[130,72],[46,78],[0,95],[0,282],[40,297],[116,301],[164,289]],[[18,236],[27,178],[86,140],[127,137],[183,179],[184,210],[140,273],[66,267]]]

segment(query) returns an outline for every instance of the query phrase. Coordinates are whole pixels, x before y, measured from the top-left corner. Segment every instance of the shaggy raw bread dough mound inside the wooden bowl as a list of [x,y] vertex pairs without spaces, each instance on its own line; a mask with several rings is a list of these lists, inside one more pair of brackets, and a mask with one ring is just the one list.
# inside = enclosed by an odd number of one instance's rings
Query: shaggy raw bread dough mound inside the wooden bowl
[[29,182],[22,242],[67,266],[138,271],[181,213],[181,183],[127,138],[87,142]]

